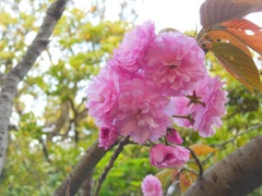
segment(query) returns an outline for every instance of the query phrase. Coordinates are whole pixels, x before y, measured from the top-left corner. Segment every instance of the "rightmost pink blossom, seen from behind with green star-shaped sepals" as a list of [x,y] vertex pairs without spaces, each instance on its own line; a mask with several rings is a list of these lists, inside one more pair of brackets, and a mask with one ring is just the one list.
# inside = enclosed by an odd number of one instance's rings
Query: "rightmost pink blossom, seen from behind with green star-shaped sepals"
[[213,135],[215,127],[221,127],[221,119],[226,113],[227,91],[222,89],[224,84],[219,77],[212,78],[206,75],[198,82],[193,90],[174,98],[172,101],[177,105],[174,114],[188,117],[174,118],[174,121],[178,125],[199,131],[202,137]]

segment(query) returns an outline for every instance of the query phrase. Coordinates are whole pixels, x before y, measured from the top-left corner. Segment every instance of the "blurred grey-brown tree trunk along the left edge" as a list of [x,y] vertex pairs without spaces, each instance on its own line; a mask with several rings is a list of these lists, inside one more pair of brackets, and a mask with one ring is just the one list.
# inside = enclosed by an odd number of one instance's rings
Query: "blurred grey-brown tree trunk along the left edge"
[[7,74],[2,75],[0,91],[0,175],[8,148],[8,134],[13,100],[17,93],[17,85],[32,69],[36,59],[47,47],[49,38],[58,20],[61,17],[68,0],[56,0],[47,10],[39,30],[28,47],[22,60]]

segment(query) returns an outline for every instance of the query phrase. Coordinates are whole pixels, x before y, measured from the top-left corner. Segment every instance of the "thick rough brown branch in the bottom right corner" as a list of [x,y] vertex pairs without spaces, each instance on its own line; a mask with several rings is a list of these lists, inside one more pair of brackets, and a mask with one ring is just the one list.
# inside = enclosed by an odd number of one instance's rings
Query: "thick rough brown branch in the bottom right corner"
[[262,185],[262,136],[227,156],[184,193],[184,196],[241,196]]

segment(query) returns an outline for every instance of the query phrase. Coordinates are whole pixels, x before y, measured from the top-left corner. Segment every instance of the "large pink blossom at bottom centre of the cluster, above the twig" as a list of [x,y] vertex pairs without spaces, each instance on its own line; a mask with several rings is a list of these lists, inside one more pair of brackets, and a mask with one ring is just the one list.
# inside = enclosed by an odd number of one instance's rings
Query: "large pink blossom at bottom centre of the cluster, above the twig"
[[120,134],[130,135],[135,143],[155,142],[165,135],[170,120],[164,112],[169,99],[162,90],[143,79],[134,78],[121,86],[119,114],[116,119]]

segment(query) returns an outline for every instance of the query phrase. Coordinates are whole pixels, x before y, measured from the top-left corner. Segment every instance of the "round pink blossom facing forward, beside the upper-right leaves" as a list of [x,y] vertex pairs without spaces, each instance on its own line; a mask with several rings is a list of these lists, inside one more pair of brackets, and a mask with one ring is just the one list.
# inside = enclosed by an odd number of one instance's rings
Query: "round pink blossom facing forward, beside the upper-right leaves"
[[195,39],[179,32],[160,33],[150,46],[142,69],[168,96],[192,89],[206,74],[203,50]]

